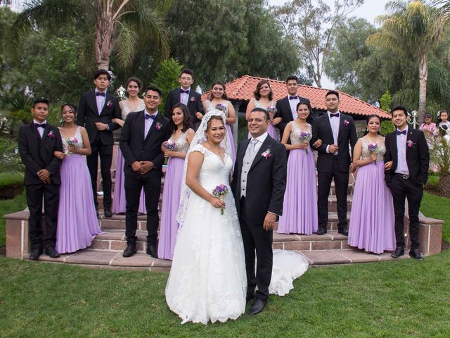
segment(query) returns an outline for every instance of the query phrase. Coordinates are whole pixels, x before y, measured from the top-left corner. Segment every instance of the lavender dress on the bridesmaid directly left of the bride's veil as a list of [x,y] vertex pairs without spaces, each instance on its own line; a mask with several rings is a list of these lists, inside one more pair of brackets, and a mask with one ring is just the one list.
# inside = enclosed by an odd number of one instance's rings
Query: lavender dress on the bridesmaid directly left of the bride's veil
[[[172,135],[173,137],[173,135]],[[170,141],[174,139],[170,137]],[[186,132],[182,133],[175,142],[176,151],[188,152]],[[174,256],[176,234],[179,223],[176,213],[180,204],[181,181],[183,180],[184,158],[170,157],[167,162],[165,184],[162,190],[162,213],[160,223],[160,238],[158,242],[158,258],[172,259]]]

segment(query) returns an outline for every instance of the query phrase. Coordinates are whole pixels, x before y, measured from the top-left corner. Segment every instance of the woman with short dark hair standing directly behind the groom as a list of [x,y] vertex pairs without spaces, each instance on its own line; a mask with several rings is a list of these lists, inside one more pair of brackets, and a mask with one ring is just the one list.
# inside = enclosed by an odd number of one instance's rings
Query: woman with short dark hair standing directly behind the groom
[[[250,100],[247,105],[247,110],[245,111],[245,120],[248,120],[248,116],[255,107],[264,108],[266,109],[266,111],[269,111],[270,120],[274,120],[274,115],[276,113],[276,101],[274,100],[274,93],[272,92],[269,81],[259,81],[256,85],[256,90],[255,92],[253,92],[253,95],[255,95],[255,99]],[[278,136],[278,129],[276,129],[271,124],[267,128],[267,133],[277,141],[280,139]],[[250,132],[248,133],[248,137],[251,137]]]

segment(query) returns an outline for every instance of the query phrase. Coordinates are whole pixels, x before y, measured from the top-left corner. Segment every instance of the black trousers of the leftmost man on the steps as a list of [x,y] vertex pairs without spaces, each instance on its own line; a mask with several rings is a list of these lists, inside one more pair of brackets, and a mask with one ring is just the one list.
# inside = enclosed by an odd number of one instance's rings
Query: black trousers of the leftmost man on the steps
[[[56,245],[56,227],[58,225],[59,185],[32,184],[25,186],[27,204],[30,210],[28,234],[31,248],[41,249],[42,242],[46,248]],[[42,239],[42,200],[44,199],[45,237]]]

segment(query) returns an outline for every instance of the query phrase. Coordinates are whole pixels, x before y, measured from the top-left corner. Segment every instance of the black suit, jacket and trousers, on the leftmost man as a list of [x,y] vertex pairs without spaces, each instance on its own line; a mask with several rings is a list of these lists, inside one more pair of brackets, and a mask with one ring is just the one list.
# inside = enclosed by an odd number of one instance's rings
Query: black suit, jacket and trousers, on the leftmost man
[[[39,134],[34,123],[23,125],[19,129],[19,154],[25,165],[25,190],[30,209],[29,233],[32,249],[42,247],[42,197],[44,196],[46,248],[56,244],[56,226],[58,223],[59,168],[61,161],[53,156],[53,151],[63,151],[61,135],[57,127],[46,125],[44,134]],[[49,170],[51,183],[44,184],[37,172]]]

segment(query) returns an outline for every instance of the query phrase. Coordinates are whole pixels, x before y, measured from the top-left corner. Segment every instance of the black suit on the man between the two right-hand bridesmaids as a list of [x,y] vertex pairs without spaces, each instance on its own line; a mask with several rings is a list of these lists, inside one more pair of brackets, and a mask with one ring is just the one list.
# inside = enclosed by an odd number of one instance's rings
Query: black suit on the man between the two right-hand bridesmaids
[[[337,118],[337,117],[335,117]],[[317,157],[318,172],[318,199],[317,209],[319,212],[319,229],[326,229],[328,223],[328,196],[330,196],[331,180],[335,180],[336,199],[338,202],[339,229],[347,227],[347,190],[349,187],[349,167],[352,158],[349,154],[349,144],[352,146],[358,140],[356,127],[353,118],[349,115],[340,113],[339,132],[338,132],[338,155],[326,152],[327,146],[335,144],[333,130],[328,118],[328,112],[323,113],[314,120],[312,126],[311,145],[322,140],[322,145],[317,148],[319,153]]]

